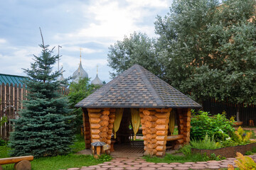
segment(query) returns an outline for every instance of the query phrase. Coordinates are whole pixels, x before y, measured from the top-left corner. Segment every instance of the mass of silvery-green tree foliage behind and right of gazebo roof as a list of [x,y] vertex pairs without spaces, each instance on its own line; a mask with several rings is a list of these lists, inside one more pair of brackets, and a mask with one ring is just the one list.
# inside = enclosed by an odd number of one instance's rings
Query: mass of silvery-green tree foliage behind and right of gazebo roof
[[256,103],[256,1],[174,0],[155,40],[134,33],[110,46],[117,74],[141,64],[197,101]]

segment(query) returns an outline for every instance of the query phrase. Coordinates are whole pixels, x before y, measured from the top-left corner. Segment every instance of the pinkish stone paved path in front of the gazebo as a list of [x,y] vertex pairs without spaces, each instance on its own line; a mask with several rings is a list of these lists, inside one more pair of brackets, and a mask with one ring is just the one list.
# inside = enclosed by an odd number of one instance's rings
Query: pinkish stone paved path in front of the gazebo
[[[256,160],[256,154],[251,155],[252,159]],[[93,166],[82,166],[81,168],[70,168],[68,170],[123,170],[123,169],[140,169],[140,170],[154,170],[154,169],[223,169],[228,168],[228,164],[235,166],[235,158],[228,158],[222,161],[208,161],[208,162],[186,162],[186,163],[152,163],[146,162],[142,158],[127,158],[118,157],[112,159],[110,162],[97,164]]]

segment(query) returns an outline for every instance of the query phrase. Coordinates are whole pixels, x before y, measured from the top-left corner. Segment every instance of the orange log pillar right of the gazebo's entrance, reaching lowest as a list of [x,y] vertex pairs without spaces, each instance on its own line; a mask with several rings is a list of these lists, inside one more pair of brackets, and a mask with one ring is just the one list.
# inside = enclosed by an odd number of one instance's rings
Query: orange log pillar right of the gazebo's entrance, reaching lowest
[[140,108],[144,139],[144,154],[163,157],[166,151],[166,137],[169,128],[171,108]]

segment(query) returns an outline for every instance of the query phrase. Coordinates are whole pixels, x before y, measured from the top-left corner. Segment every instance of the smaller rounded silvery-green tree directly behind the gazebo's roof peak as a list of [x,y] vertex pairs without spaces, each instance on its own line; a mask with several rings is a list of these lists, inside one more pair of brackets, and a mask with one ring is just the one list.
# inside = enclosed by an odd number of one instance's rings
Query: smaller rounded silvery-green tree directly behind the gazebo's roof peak
[[124,36],[124,40],[109,47],[109,66],[115,71],[110,73],[111,76],[115,77],[132,65],[140,64],[161,77],[161,66],[155,52],[154,39],[145,33],[134,32],[129,37]]

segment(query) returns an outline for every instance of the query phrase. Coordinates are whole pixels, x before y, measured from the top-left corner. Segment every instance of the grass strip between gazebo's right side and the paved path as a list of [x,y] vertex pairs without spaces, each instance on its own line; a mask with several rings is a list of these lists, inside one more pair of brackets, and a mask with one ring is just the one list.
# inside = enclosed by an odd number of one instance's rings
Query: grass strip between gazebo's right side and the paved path
[[165,157],[144,157],[146,162],[154,162],[154,163],[171,163],[171,162],[205,162],[208,161],[206,157],[203,157],[201,154],[191,154],[188,156],[178,156],[173,154],[166,154]]

